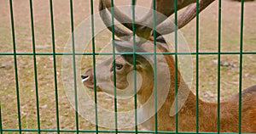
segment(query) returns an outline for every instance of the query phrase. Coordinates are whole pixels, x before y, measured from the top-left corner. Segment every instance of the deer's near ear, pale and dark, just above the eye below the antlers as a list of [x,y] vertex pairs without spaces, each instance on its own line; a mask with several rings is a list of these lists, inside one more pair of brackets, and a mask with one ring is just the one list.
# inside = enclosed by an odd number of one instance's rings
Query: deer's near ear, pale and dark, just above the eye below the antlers
[[[119,53],[124,53],[121,54],[121,56],[129,63],[133,64],[133,45],[130,42],[126,41],[120,41],[120,40],[115,40],[114,45]],[[135,45],[135,50],[136,53],[147,53],[142,47],[139,47],[139,45]],[[136,64],[140,65],[146,65],[149,64],[152,60],[152,56],[149,54],[135,54],[136,55]]]

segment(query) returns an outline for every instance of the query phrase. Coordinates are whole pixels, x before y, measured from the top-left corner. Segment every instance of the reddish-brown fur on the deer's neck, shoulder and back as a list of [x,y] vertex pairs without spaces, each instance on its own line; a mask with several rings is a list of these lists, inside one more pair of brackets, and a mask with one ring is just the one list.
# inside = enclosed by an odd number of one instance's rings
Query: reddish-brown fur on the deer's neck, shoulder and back
[[[161,52],[168,52],[166,48],[158,45]],[[159,131],[175,131],[176,120],[175,116],[170,116],[170,109],[175,97],[175,62],[172,56],[165,55],[166,62],[169,65],[169,74],[171,76],[170,90],[167,95],[165,103],[159,109],[158,115],[158,130]],[[118,62],[118,60],[116,61]],[[125,64],[126,65],[126,64]],[[131,71],[132,66],[125,66],[125,72]],[[153,92],[154,79],[153,69],[147,70],[137,67],[143,75],[143,85],[141,90],[137,93],[137,98],[140,103],[145,103]],[[178,70],[177,70],[178,71]],[[90,72],[92,73],[92,72]],[[91,75],[91,74],[90,74]],[[118,74],[122,75],[121,73]],[[168,75],[168,74],[166,74]],[[123,75],[124,76],[124,75]],[[100,81],[97,81],[100,82]],[[120,85],[123,81],[117,80]],[[91,84],[91,82],[90,82]],[[189,92],[189,97],[184,103],[182,109],[178,112],[178,131],[196,131],[196,98],[195,94],[189,90],[189,87],[183,81],[183,77],[177,72],[177,87],[181,92]],[[90,87],[88,83],[85,86]],[[160,90],[160,89],[158,89]],[[182,94],[183,95],[183,94]],[[179,96],[182,98],[182,95]],[[247,88],[242,92],[241,98],[241,131],[242,132],[256,132],[256,86]],[[199,99],[198,102],[198,127],[199,131],[217,131],[217,103],[206,103]],[[147,109],[143,114],[147,113]],[[237,132],[239,131],[239,95],[236,94],[227,101],[220,103],[220,131],[223,132]],[[154,116],[143,123],[149,130],[154,130]]]

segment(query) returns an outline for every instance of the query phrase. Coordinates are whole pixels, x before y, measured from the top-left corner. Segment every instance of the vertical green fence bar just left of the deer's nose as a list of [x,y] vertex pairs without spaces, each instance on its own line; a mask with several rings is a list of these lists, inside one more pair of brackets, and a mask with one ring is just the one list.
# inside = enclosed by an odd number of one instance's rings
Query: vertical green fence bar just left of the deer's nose
[[77,73],[76,73],[76,51],[74,42],[74,28],[73,28],[73,0],[70,0],[70,24],[71,24],[71,36],[72,36],[72,55],[73,55],[73,87],[75,97],[75,120],[76,120],[76,133],[79,133],[79,106],[78,106],[78,91],[77,91]]

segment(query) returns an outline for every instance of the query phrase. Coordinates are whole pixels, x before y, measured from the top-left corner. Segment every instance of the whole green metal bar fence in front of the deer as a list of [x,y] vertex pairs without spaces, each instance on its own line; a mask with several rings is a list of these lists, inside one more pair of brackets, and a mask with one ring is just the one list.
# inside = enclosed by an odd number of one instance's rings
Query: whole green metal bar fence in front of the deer
[[[76,59],[76,56],[77,55],[92,55],[93,57],[93,68],[95,69],[96,68],[96,55],[98,54],[101,54],[101,53],[96,53],[96,50],[95,50],[95,40],[94,40],[94,18],[93,18],[93,14],[94,14],[94,1],[93,0],[90,0],[90,14],[91,14],[91,29],[92,29],[92,53],[76,53],[75,52],[75,36],[73,34],[73,32],[71,33],[72,35],[72,44],[73,44],[73,52],[72,53],[56,53],[55,52],[55,23],[54,23],[54,11],[53,11],[53,2],[52,0],[49,0],[49,14],[50,14],[50,24],[51,24],[51,40],[52,40],[52,53],[37,53],[36,52],[36,42],[35,42],[35,31],[34,31],[34,20],[33,20],[33,6],[32,6],[32,0],[29,1],[30,2],[30,13],[31,13],[31,29],[32,29],[32,53],[17,53],[16,52],[16,42],[15,42],[15,17],[14,17],[14,8],[13,8],[13,1],[12,0],[9,0],[9,12],[10,12],[10,20],[11,20],[11,31],[12,31],[12,44],[13,44],[13,53],[0,53],[0,56],[13,56],[13,59],[14,59],[14,70],[15,70],[15,90],[16,90],[16,104],[17,104],[17,120],[18,120],[18,128],[15,129],[15,128],[4,128],[3,127],[3,118],[2,118],[2,115],[3,114],[8,114],[8,113],[3,113],[3,111],[1,109],[3,109],[2,105],[0,105],[0,133],[12,133],[12,132],[18,132],[18,133],[23,133],[23,132],[38,132],[38,133],[41,133],[41,132],[55,132],[55,133],[81,133],[81,132],[84,132],[84,133],[119,133],[119,132],[122,132],[122,133],[181,133],[178,131],[178,126],[177,126],[177,122],[178,122],[178,118],[177,118],[177,115],[176,115],[176,131],[158,131],[158,125],[157,125],[157,120],[158,120],[158,117],[157,117],[157,114],[155,114],[154,116],[154,120],[155,120],[155,131],[140,131],[138,130],[138,126],[137,126],[137,110],[135,110],[135,125],[134,126],[134,130],[119,130],[119,126],[118,126],[118,123],[117,123],[117,120],[118,120],[118,116],[117,114],[115,114],[115,129],[112,130],[112,131],[102,131],[102,130],[99,130],[99,126],[97,126],[97,105],[95,105],[95,109],[96,109],[96,126],[95,126],[95,130],[86,130],[86,129],[81,129],[79,128],[79,113],[78,113],[78,99],[77,99],[77,80],[76,80],[76,71],[73,70],[73,77],[74,77],[74,85],[73,85],[73,88],[74,88],[74,94],[75,94],[75,129],[74,130],[67,130],[67,129],[61,129],[60,127],[60,109],[59,109],[59,94],[58,94],[58,89],[59,89],[59,86],[57,84],[57,66],[56,66],[56,56],[60,56],[60,55],[72,55],[73,56],[73,68],[75,69],[76,68],[76,63],[75,63],[75,59]],[[175,24],[177,24],[177,1],[175,1]],[[113,6],[113,0],[111,1],[112,3],[112,6]],[[253,54],[255,55],[256,52],[255,51],[243,51],[243,14],[244,14],[244,0],[241,0],[241,33],[240,33],[240,51],[239,52],[222,52],[221,51],[221,22],[222,22],[222,17],[221,17],[221,11],[222,11],[222,6],[221,6],[221,0],[218,0],[218,52],[200,52],[199,51],[199,46],[201,44],[199,44],[199,10],[197,8],[196,10],[196,26],[195,26],[195,30],[196,30],[196,48],[195,48],[195,52],[192,52],[192,53],[177,53],[177,29],[175,31],[175,35],[176,35],[176,39],[175,39],[175,52],[173,53],[162,53],[162,54],[172,54],[174,55],[174,58],[175,58],[175,61],[176,61],[176,64],[177,64],[177,55],[178,54],[187,54],[187,55],[195,55],[195,59],[196,59],[196,64],[195,64],[195,87],[196,87],[196,131],[191,131],[191,132],[186,132],[186,133],[202,133],[202,132],[199,132],[199,127],[198,127],[198,119],[199,119],[199,114],[198,114],[198,100],[199,100],[199,56],[200,55],[218,55],[218,120],[217,120],[217,124],[218,124],[218,128],[217,131],[219,133],[220,131],[220,128],[219,128],[219,122],[220,122],[220,107],[219,107],[219,103],[220,103],[220,59],[221,59],[221,55],[239,55],[240,57],[240,65],[239,65],[239,133],[241,133],[241,88],[242,88],[242,64],[243,64],[243,55],[245,54]],[[132,0],[132,4],[135,4],[135,0]],[[197,0],[196,2],[196,5],[198,7],[198,4],[199,4],[199,1]],[[155,1],[154,1],[154,8],[155,8]],[[132,9],[133,10],[133,14],[132,14],[132,18],[133,18],[133,22],[135,22],[135,12],[134,12],[134,8]],[[113,10],[111,11],[112,14],[113,14]],[[0,17],[1,18],[1,17]],[[154,18],[155,18],[155,14],[154,14]],[[114,18],[112,16],[112,23],[114,22],[113,21]],[[70,21],[71,21],[71,31],[74,31],[74,24],[73,24],[73,0],[70,0]],[[155,24],[154,24],[154,29],[155,29]],[[112,30],[114,31],[114,27],[112,27]],[[133,25],[133,31],[135,31],[135,25]],[[155,31],[154,31],[154,38],[155,38]],[[133,33],[133,36],[135,36],[135,33]],[[113,43],[114,43],[114,34],[112,36],[113,38]],[[133,42],[134,42],[134,45],[135,45],[135,38],[133,38]],[[154,62],[156,60],[156,42],[154,40]],[[115,47],[113,45],[113,52],[115,52]],[[132,53],[133,54],[133,58],[135,60],[133,60],[133,64],[135,66],[136,64],[136,51],[134,50],[134,52]],[[113,59],[115,59],[115,54],[116,53],[108,53],[108,54],[112,54],[113,55]],[[151,53],[152,54],[152,53]],[[33,71],[34,71],[34,81],[35,81],[35,98],[36,98],[36,113],[37,113],[37,128],[35,129],[26,129],[26,128],[22,128],[21,127],[21,116],[20,116],[20,87],[19,87],[19,82],[20,80],[18,79],[19,78],[19,73],[18,73],[18,64],[17,64],[17,56],[20,56],[20,55],[26,55],[26,56],[32,56],[32,61],[33,62]],[[40,124],[40,109],[39,109],[39,99],[38,99],[38,67],[37,67],[37,57],[40,56],[40,55],[48,55],[48,56],[52,56],[53,58],[53,75],[54,75],[54,89],[55,89],[55,120],[56,120],[56,126],[55,126],[55,129],[43,129],[41,128],[41,124]],[[113,60],[113,64],[115,64],[114,60]],[[114,65],[113,65],[114,66]],[[136,68],[134,67],[134,70],[136,70]],[[176,68],[175,70],[177,70],[177,65],[176,65]],[[157,69],[156,69],[156,66],[154,65],[154,73],[156,73]],[[177,77],[177,71],[176,72],[176,77]],[[115,70],[113,70],[113,73],[115,74]],[[96,70],[94,70],[94,74],[96,74]],[[133,74],[134,76],[134,83],[137,83],[137,77],[136,77],[136,74]],[[156,80],[156,75],[154,75],[154,80]],[[96,75],[94,75],[94,78],[96,80]],[[116,84],[116,81],[115,81],[115,75],[113,75],[113,78],[114,78],[114,86]],[[176,79],[177,80],[177,79]],[[157,86],[157,82],[154,81],[154,87]],[[96,88],[96,81],[94,82],[94,87]],[[137,84],[134,85],[134,88],[137,89]],[[177,81],[176,81],[176,93],[177,93]],[[114,91],[116,92],[116,89],[114,89]],[[137,91],[135,91],[137,92]],[[115,95],[116,96],[116,95]],[[97,92],[94,92],[94,97],[95,97],[95,103],[97,103]],[[154,91],[154,97],[156,98],[157,97],[157,92]],[[134,102],[135,102],[135,108],[137,108],[137,95],[135,93],[135,97],[134,97]],[[156,102],[155,102],[156,103]],[[115,98],[114,99],[114,112],[117,113],[117,99]],[[176,107],[177,107],[177,102],[176,102]],[[157,106],[155,104],[155,111],[157,111]],[[65,109],[61,109],[61,110],[65,110]],[[182,132],[184,133],[184,132]],[[211,133],[211,132],[207,132],[207,133]],[[216,132],[212,132],[212,133],[216,133]],[[232,132],[226,132],[226,133],[232,133]]]

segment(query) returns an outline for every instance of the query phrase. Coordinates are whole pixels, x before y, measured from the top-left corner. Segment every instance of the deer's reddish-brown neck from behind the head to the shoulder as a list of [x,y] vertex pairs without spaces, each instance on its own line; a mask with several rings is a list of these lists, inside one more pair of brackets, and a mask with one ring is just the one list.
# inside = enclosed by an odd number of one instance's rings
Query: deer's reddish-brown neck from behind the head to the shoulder
[[[176,92],[175,92],[175,71],[174,70],[174,61],[172,57],[167,57],[166,60],[169,63],[169,72],[171,74],[163,74],[163,75],[171,75],[171,84],[169,87],[168,92],[166,92],[167,97],[164,100],[164,103],[161,103],[158,105],[160,107],[158,109],[158,115],[160,122],[163,122],[161,127],[163,127],[164,130],[165,124],[171,128],[170,130],[175,130],[175,115],[178,114],[178,126],[179,131],[182,130],[191,130],[195,131],[195,128],[191,128],[191,126],[196,126],[196,97],[193,92],[190,91],[188,85],[183,81],[183,77],[180,75],[180,72],[177,70],[177,110],[175,109],[175,101],[176,101]],[[171,63],[171,64],[170,64]],[[150,74],[150,73],[149,73]],[[145,75],[145,77],[154,77],[154,75]],[[137,98],[138,101],[142,105],[147,105],[148,99],[152,98],[152,94],[154,94],[154,79],[143,79],[147,81],[144,82],[143,89],[138,92]],[[159,83],[160,84],[160,83]],[[161,88],[157,88],[157,92],[160,92]],[[157,98],[161,98],[161,95],[158,94]],[[159,104],[159,103],[158,103]],[[144,107],[142,114],[143,116],[149,116],[148,111],[151,111],[154,109],[154,102],[151,102],[151,107]],[[200,117],[199,126],[202,130],[205,131],[215,131],[215,130],[207,130],[210,128],[216,128],[216,120],[217,120],[217,106],[216,103],[205,103],[201,101],[201,99],[198,99],[198,114]],[[150,112],[149,112],[150,113]],[[147,117],[143,117],[147,118]],[[211,120],[210,120],[211,119]],[[162,121],[166,120],[166,121]],[[205,120],[207,120],[207,124],[205,123]],[[154,124],[154,123],[153,123]],[[191,125],[194,124],[194,125]],[[211,127],[210,127],[211,126]],[[212,127],[214,126],[214,127]]]

